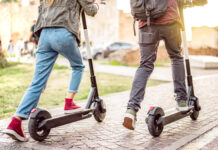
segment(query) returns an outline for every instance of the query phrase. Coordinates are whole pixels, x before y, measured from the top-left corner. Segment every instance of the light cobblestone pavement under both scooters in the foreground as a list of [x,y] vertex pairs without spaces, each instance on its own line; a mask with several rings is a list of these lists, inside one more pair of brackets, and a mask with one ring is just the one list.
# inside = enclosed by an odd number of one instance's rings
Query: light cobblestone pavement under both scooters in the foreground
[[[138,113],[135,131],[129,131],[122,126],[123,115],[129,97],[129,91],[127,91],[103,97],[107,105],[107,116],[103,123],[97,123],[93,118],[90,118],[64,125],[52,129],[48,139],[43,142],[36,142],[31,138],[27,143],[15,142],[2,133],[9,119],[0,121],[0,149],[162,150],[176,141],[185,141],[185,144],[187,144],[194,140],[191,136],[195,136],[195,138],[200,136],[197,134],[202,128],[210,124],[218,125],[215,122],[218,119],[218,75],[201,77],[194,81],[194,85],[195,93],[199,97],[202,106],[199,119],[192,121],[189,117],[186,117],[169,124],[164,127],[164,131],[159,138],[153,138],[148,133],[145,117],[151,105],[161,106],[164,110],[175,107],[172,83],[147,88],[142,109]],[[58,108],[53,110],[52,114],[55,112],[61,113],[61,111],[62,108]],[[26,123],[25,129],[27,129]],[[25,131],[27,132],[27,130]]]

